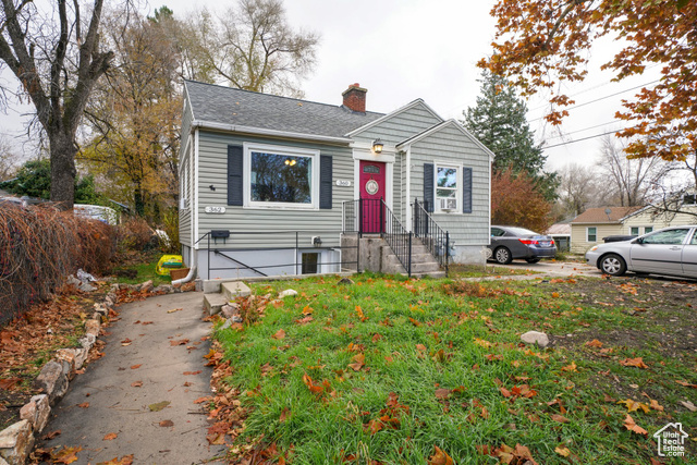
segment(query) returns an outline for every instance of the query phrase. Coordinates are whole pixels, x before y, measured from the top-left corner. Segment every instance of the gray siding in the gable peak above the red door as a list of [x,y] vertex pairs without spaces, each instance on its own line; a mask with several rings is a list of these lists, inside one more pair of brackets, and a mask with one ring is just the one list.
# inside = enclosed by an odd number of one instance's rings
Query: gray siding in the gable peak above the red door
[[417,105],[372,127],[355,134],[355,139],[382,139],[386,144],[396,145],[409,137],[420,134],[443,120],[428,111],[424,105]]

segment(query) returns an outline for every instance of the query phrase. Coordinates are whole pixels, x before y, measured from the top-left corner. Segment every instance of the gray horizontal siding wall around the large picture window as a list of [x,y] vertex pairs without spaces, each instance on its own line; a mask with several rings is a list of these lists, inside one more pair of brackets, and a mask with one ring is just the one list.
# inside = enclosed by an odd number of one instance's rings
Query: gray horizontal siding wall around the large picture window
[[[227,183],[228,145],[242,145],[245,142],[307,148],[319,150],[320,155],[332,156],[332,209],[291,210],[229,206]],[[348,147],[253,136],[243,137],[203,130],[199,131],[198,147],[199,237],[211,230],[228,230],[232,233],[231,237],[224,244],[219,240],[217,247],[293,247],[295,245],[295,234],[285,232],[303,230],[309,231],[309,233],[301,234],[302,246],[309,244],[311,235],[321,236],[323,246],[331,246],[334,242],[338,244],[342,229],[342,201],[353,199],[354,161],[352,150]],[[319,159],[313,164],[313,170],[318,169]],[[337,180],[350,180],[352,181],[352,186],[337,186]],[[245,182],[247,181],[245,180]],[[210,185],[213,185],[216,191],[211,191]],[[227,211],[223,215],[206,213],[205,208],[208,206],[225,207]],[[246,234],[236,234],[241,232],[246,232]],[[201,241],[198,246],[199,248],[206,248],[207,241]]]

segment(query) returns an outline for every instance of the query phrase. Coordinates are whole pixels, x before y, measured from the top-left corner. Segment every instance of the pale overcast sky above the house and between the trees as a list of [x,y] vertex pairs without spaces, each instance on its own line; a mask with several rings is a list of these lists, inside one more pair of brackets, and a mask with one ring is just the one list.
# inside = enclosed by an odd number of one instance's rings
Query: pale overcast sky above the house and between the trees
[[[390,112],[416,98],[423,98],[441,117],[462,119],[474,106],[479,93],[477,61],[491,53],[494,21],[489,15],[492,0],[285,0],[289,23],[321,35],[318,63],[304,82],[308,100],[341,103],[341,93],[348,84],[359,83],[368,89],[367,108]],[[167,0],[146,7],[166,4],[175,15],[185,15],[207,5],[224,9],[233,2]],[[586,82],[568,88],[578,108],[561,129],[545,124],[545,100],[528,101],[528,120],[538,142],[547,146],[548,169],[568,162],[590,164],[600,146],[599,134],[622,127],[614,120],[622,98],[655,81],[653,74],[622,83],[610,83],[609,73],[599,71],[616,46],[606,40],[594,49]],[[5,76],[4,82],[8,81]],[[617,94],[613,97],[608,97]],[[596,101],[594,101],[596,100]],[[0,132],[21,133],[14,109],[0,117]],[[560,132],[561,130],[561,132]],[[588,138],[590,137],[590,138]],[[572,140],[587,140],[572,143]],[[15,138],[19,144],[23,138]]]

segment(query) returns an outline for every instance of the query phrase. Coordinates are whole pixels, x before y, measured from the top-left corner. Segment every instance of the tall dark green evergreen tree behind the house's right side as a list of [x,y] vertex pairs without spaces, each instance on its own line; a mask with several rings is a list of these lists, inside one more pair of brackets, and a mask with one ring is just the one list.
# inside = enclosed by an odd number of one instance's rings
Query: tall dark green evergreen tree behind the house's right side
[[463,114],[467,130],[496,155],[493,172],[525,171],[546,199],[553,200],[559,184],[557,173],[545,172],[547,157],[535,145],[526,119],[527,107],[505,78],[485,71],[477,105]]

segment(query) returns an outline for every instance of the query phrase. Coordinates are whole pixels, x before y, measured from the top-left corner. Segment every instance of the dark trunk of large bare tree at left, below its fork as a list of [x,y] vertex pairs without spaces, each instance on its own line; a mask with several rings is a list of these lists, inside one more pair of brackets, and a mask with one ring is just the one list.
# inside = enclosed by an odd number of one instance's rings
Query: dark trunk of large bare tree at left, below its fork
[[51,146],[51,201],[62,210],[73,208],[75,201],[75,155],[72,137],[62,132],[49,135]]

